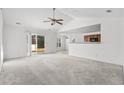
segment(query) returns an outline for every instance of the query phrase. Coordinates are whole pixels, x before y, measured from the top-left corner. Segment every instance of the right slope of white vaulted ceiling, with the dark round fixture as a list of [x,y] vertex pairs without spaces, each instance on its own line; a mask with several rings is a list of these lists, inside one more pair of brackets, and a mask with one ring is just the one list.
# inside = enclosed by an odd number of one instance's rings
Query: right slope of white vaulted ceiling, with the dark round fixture
[[62,8],[61,11],[74,18],[124,17],[124,8]]

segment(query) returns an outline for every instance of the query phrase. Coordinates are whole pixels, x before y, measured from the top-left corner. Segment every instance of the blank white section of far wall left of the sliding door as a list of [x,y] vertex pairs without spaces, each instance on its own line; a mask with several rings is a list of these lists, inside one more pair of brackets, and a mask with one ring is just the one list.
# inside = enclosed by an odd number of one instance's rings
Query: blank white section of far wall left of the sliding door
[[4,26],[4,58],[27,56],[26,29],[15,26]]

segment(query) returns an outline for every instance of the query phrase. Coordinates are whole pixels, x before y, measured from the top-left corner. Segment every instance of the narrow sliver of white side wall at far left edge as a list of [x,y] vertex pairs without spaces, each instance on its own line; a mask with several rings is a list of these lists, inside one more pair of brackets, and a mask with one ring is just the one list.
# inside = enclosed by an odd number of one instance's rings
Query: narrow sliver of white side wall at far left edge
[[3,18],[2,11],[0,9],[0,69],[3,63]]

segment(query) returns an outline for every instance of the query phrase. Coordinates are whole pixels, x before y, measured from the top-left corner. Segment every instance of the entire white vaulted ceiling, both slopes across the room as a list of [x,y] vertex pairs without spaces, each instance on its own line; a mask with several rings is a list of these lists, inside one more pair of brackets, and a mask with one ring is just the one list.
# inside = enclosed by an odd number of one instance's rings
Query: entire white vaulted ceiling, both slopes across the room
[[[109,8],[110,9],[110,8]],[[23,27],[37,29],[61,29],[70,21],[76,18],[103,18],[103,17],[124,17],[124,9],[112,8],[107,13],[107,8],[57,8],[56,17],[63,18],[63,26],[57,24],[51,26],[44,23],[52,16],[52,8],[3,8],[4,24],[16,25],[20,22]]]

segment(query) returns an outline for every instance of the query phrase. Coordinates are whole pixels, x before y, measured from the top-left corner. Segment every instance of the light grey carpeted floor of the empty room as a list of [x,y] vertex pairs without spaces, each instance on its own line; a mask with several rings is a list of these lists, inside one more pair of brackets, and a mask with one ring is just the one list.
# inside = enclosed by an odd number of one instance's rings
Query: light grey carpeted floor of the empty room
[[43,54],[8,60],[0,73],[1,85],[114,85],[123,84],[122,66]]

